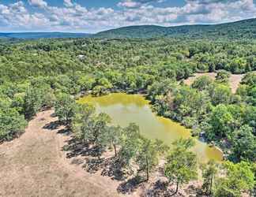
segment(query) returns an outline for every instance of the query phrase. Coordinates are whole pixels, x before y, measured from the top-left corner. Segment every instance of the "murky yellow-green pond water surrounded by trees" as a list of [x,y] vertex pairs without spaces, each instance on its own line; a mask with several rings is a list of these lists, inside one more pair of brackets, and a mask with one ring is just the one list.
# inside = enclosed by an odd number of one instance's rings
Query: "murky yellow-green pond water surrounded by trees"
[[[161,139],[171,145],[173,141],[191,137],[190,129],[168,118],[156,116],[152,113],[149,101],[142,95],[126,95],[115,93],[100,97],[91,95],[79,99],[81,103],[91,103],[96,107],[97,113],[107,113],[112,118],[112,123],[125,127],[131,122],[140,127],[141,134],[149,139]],[[198,155],[199,162],[207,162],[209,159],[221,161],[223,154],[215,147],[209,147],[196,139],[193,151]]]

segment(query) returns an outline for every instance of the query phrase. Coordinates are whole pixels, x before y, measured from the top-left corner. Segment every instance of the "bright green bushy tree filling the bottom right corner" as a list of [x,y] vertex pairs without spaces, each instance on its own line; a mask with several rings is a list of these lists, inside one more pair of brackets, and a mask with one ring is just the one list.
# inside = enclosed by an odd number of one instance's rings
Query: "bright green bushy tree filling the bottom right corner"
[[254,188],[255,180],[252,167],[248,162],[234,164],[232,162],[224,163],[225,177],[217,180],[216,197],[239,197],[242,192],[249,192]]

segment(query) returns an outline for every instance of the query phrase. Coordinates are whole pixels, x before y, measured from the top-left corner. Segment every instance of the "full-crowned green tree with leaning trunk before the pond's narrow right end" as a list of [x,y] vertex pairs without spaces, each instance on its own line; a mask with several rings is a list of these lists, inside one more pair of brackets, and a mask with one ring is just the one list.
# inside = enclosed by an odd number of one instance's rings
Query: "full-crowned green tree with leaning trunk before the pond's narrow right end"
[[179,191],[180,184],[187,184],[198,176],[197,157],[190,147],[194,145],[191,139],[179,139],[167,157],[164,174],[170,181],[175,181],[176,189],[171,195]]

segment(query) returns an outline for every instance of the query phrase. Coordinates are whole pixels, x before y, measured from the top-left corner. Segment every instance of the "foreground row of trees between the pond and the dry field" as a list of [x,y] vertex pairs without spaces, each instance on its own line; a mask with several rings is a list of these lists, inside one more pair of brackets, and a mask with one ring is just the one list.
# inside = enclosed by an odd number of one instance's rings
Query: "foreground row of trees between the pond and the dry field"
[[[114,150],[115,168],[121,172],[133,169],[129,176],[135,173],[137,183],[148,181],[163,158],[164,176],[175,184],[170,195],[178,193],[183,184],[198,179],[198,159],[190,151],[194,146],[193,139],[179,139],[170,149],[158,139],[145,139],[135,124],[131,123],[126,128],[111,125],[111,117],[106,113],[96,114],[93,106],[79,104],[66,94],[58,95],[55,113],[58,120],[71,129],[76,143],[89,144],[100,153],[109,148]],[[198,194],[216,197],[240,196],[244,192],[253,194],[255,169],[255,163],[250,162],[224,162],[220,165],[209,161],[201,165],[204,181]]]

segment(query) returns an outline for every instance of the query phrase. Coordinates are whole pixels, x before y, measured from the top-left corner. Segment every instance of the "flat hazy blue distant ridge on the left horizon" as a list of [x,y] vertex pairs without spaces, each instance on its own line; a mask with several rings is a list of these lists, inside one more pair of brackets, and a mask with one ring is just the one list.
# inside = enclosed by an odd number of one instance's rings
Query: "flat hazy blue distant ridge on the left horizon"
[[0,39],[58,39],[58,38],[85,38],[90,34],[66,32],[21,32],[0,33]]

